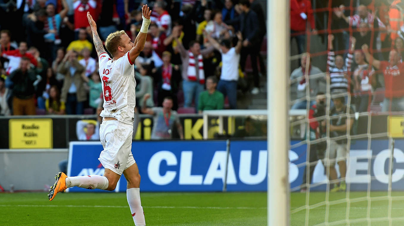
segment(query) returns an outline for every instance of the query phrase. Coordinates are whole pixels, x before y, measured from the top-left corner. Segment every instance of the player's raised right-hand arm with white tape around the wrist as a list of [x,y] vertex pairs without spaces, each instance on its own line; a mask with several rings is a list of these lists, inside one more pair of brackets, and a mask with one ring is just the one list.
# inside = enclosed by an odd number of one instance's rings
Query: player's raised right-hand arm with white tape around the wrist
[[139,32],[139,34],[137,34],[136,39],[133,42],[133,48],[129,51],[129,58],[130,58],[130,61],[132,61],[132,62],[135,61],[136,57],[139,56],[139,53],[145,47],[147,30],[149,29],[149,25],[150,25],[150,15],[151,15],[151,10],[149,10],[149,7],[147,7],[147,5],[143,5],[143,7],[142,7],[142,18],[143,18],[142,27],[140,28],[140,32]]

